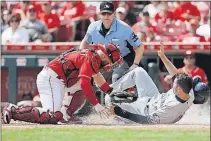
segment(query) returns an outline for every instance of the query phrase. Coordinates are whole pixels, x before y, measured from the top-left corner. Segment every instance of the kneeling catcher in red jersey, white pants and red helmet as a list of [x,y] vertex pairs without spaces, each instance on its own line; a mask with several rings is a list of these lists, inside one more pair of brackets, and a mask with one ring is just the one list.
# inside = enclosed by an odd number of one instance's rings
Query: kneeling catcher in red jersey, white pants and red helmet
[[[43,108],[18,108],[16,105],[6,104],[2,110],[2,123],[8,124],[11,119],[41,124],[74,121],[71,114],[83,102],[77,100],[81,92],[101,116],[108,116],[110,111],[99,104],[91,78],[102,91],[109,93],[112,89],[100,70],[110,71],[113,65],[122,63],[122,57],[119,48],[113,44],[93,46],[95,50],[69,50],[49,62],[37,76],[37,88]],[[65,93],[67,96],[64,98]],[[77,107],[73,107],[76,104]]]

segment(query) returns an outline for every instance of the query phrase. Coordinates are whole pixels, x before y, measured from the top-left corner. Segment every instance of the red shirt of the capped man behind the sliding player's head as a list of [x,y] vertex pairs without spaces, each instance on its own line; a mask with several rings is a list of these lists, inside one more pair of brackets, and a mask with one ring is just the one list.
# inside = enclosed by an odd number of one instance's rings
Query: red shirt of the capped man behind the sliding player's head
[[204,83],[207,82],[207,77],[206,77],[204,70],[199,67],[195,67],[191,71],[187,70],[185,67],[182,67],[182,68],[179,68],[179,72],[189,74],[192,76],[192,78],[199,77],[199,78],[201,78],[202,82],[204,82]]

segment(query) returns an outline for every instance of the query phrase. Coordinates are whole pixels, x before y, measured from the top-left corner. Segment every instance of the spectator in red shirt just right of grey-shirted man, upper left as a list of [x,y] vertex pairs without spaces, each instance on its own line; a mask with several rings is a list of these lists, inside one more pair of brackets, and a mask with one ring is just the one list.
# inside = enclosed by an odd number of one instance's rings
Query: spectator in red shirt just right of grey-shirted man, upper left
[[[45,22],[49,33],[54,37],[59,29],[60,26],[60,19],[57,16],[57,14],[53,14],[51,12],[52,6],[50,2],[43,2],[42,3],[42,10],[44,13],[42,13],[40,19]],[[53,39],[53,40],[54,40]]]

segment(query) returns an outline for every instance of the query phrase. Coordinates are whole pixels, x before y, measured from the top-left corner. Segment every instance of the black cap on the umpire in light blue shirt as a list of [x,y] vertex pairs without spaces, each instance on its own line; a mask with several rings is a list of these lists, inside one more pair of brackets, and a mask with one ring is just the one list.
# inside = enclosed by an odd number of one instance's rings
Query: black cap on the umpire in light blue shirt
[[115,10],[114,5],[110,1],[103,1],[100,4],[100,13],[103,13],[103,12],[113,13],[114,10]]

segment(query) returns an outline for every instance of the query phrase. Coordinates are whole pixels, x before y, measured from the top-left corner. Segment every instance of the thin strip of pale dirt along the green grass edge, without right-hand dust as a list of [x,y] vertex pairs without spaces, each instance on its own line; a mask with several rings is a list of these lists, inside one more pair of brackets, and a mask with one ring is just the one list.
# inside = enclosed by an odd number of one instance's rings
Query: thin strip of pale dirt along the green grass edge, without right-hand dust
[[97,129],[143,129],[143,130],[187,130],[187,131],[208,131],[210,124],[184,124],[176,123],[171,125],[141,125],[133,122],[126,123],[121,120],[100,119],[97,115],[92,115],[83,119],[83,124],[61,124],[61,125],[43,125],[20,121],[11,121],[10,124],[3,124],[2,129],[31,129],[31,128],[97,128]]

